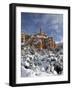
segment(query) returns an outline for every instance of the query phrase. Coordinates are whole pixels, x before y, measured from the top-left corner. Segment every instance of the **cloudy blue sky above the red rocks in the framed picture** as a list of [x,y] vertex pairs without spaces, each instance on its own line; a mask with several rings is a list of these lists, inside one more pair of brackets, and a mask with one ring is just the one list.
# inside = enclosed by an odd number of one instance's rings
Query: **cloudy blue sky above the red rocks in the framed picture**
[[43,13],[21,13],[21,32],[35,34],[40,28],[56,42],[63,40],[63,15]]

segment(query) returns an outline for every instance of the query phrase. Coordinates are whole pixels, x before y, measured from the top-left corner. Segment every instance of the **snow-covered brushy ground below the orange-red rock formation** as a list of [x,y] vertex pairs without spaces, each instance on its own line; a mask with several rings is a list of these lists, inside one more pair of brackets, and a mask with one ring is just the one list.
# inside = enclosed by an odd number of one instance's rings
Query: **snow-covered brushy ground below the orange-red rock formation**
[[30,46],[21,50],[21,77],[51,76],[63,73],[63,50],[38,50]]

